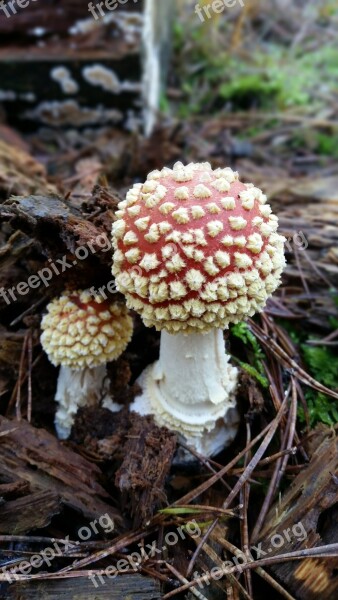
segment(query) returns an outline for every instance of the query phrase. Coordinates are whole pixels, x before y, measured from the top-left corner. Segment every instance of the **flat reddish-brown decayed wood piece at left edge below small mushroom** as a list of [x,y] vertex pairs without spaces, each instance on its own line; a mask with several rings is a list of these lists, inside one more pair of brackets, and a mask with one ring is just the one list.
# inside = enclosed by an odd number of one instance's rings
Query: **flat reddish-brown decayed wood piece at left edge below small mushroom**
[[[30,531],[34,523],[42,527],[62,506],[89,519],[108,513],[116,527],[121,526],[120,513],[109,503],[109,495],[99,483],[99,468],[62,445],[45,429],[36,429],[27,421],[1,417],[0,449],[1,477],[29,484],[28,495],[0,507],[0,519],[6,516],[8,520],[8,529],[6,521],[2,524],[3,532]],[[41,503],[44,496],[46,500]],[[31,520],[29,515],[34,515],[34,510],[37,514]]]

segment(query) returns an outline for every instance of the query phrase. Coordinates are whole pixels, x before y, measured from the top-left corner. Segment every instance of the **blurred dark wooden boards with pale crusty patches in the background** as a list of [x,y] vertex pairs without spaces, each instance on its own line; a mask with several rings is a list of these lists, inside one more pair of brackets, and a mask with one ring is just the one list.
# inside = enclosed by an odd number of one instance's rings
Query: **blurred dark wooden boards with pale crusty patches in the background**
[[143,0],[117,3],[102,16],[82,0],[49,0],[43,11],[30,2],[1,13],[0,102],[9,121],[25,130],[128,127],[141,110],[142,9]]

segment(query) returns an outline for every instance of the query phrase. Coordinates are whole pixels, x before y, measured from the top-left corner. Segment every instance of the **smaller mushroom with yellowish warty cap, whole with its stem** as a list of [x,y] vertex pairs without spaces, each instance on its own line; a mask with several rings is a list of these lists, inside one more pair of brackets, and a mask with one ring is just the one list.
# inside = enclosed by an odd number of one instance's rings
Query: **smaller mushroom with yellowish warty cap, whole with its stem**
[[55,366],[61,365],[55,400],[55,428],[60,439],[70,435],[77,409],[109,398],[106,363],[127,347],[133,323],[125,306],[93,297],[88,290],[65,291],[47,306],[41,344]]

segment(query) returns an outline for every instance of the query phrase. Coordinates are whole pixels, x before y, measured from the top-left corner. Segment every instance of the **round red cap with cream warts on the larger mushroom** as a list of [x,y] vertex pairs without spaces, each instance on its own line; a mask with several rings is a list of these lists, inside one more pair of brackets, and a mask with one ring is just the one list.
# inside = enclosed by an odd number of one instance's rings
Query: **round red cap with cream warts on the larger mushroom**
[[176,163],[119,204],[113,273],[147,326],[226,328],[264,308],[285,265],[266,196],[230,168]]

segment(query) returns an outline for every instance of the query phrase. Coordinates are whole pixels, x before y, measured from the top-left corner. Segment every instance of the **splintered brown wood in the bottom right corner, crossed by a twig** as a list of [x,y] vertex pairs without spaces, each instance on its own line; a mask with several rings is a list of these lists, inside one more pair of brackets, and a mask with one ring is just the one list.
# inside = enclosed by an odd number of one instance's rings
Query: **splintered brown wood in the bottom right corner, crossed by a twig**
[[[309,465],[269,511],[259,536],[269,557],[337,542],[337,433],[337,427],[317,428],[310,440]],[[337,566],[336,557],[305,558],[277,564],[271,571],[299,600],[336,600]]]

